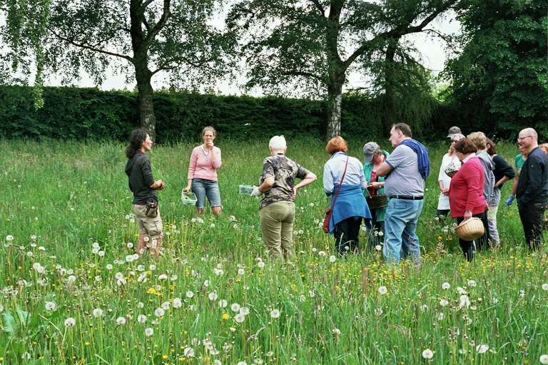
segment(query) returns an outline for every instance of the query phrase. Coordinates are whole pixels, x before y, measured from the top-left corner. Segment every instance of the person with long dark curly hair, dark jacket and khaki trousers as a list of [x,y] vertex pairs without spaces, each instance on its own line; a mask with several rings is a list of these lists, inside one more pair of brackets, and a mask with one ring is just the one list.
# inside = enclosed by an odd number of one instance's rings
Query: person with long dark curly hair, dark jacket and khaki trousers
[[[158,210],[158,193],[166,184],[162,180],[154,180],[151,160],[146,153],[152,148],[151,137],[146,130],[133,130],[126,148],[126,175],[128,175],[129,190],[133,192],[133,213],[139,227],[139,242],[136,252],[141,256],[148,248],[151,254],[160,256],[162,243],[162,219]],[[150,207],[150,202],[156,203],[156,212]]]

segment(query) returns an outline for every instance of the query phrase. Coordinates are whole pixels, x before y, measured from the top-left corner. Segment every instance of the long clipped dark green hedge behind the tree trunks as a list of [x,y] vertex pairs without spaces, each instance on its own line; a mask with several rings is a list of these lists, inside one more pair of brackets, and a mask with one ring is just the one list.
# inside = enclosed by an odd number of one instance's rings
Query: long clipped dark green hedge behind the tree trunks
[[[137,95],[130,91],[95,88],[44,88],[44,108],[34,110],[31,88],[0,86],[0,133],[3,138],[61,138],[126,140],[138,126]],[[277,97],[215,96],[197,93],[154,94],[157,140],[160,143],[196,141],[205,125],[223,138],[265,138],[273,134],[323,138],[327,119],[324,101]],[[451,125],[436,125],[447,130]],[[437,133],[425,130],[425,136]],[[360,139],[385,138],[375,99],[345,96],[342,135]],[[422,131],[414,131],[423,135]],[[441,132],[444,133],[444,132]],[[439,136],[438,136],[439,138]]]

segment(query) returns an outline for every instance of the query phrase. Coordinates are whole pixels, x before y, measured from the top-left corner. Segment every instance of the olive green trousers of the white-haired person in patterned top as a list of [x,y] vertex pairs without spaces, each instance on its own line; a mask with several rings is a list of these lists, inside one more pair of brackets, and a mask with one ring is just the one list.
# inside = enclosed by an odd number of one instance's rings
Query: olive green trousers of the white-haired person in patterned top
[[294,202],[273,202],[259,210],[263,241],[275,259],[293,255]]

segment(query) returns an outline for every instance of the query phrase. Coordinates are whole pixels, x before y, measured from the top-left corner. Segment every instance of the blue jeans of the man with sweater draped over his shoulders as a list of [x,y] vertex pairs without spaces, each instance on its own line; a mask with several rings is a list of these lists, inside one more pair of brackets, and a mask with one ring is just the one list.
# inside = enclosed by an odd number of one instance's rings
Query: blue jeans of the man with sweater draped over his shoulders
[[382,253],[387,263],[400,263],[400,256],[411,256],[420,265],[419,237],[415,234],[424,200],[390,199],[385,216],[385,246]]

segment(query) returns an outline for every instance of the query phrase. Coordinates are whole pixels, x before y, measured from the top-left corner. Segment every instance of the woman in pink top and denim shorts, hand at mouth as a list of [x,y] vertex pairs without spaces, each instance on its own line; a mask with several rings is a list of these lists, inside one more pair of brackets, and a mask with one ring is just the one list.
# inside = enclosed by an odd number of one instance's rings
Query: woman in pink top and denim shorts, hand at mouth
[[196,212],[203,214],[205,197],[208,197],[213,214],[221,211],[217,169],[220,168],[220,148],[213,145],[215,128],[205,127],[202,130],[203,144],[192,150],[191,163],[188,165],[188,183],[183,192],[196,194]]

